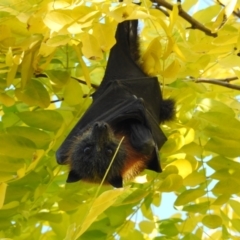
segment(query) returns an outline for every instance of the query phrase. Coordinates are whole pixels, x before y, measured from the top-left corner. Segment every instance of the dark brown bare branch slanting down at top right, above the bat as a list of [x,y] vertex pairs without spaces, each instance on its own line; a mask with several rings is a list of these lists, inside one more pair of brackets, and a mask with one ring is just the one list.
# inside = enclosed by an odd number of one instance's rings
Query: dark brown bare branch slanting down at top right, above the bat
[[[173,5],[166,2],[165,0],[151,0],[151,2],[157,3],[158,6],[163,6],[169,10],[173,9]],[[159,8],[157,8],[157,9],[159,9]],[[196,19],[191,17],[187,12],[185,12],[182,9],[181,5],[179,5],[179,16],[181,16],[182,18],[184,18],[187,22],[189,22],[191,24],[191,29],[198,29],[200,31],[203,31],[203,32],[205,32],[206,35],[208,35],[210,37],[217,37],[217,33],[212,33],[210,29],[206,28],[203,24],[201,24]]]

